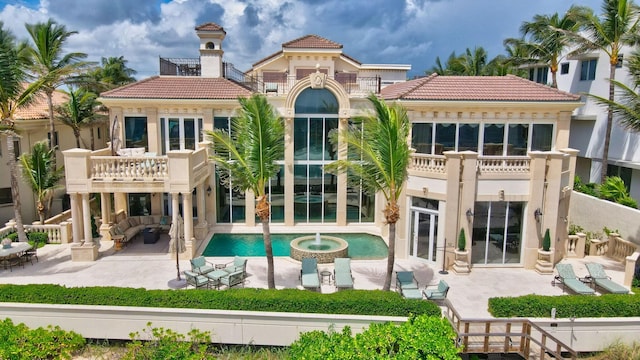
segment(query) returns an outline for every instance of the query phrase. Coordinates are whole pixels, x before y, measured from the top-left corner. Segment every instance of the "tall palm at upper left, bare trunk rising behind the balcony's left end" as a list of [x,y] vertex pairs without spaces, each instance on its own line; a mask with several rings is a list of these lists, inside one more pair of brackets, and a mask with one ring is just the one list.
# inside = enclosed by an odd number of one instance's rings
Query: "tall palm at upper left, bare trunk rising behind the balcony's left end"
[[58,142],[53,121],[53,92],[87,69],[89,63],[80,61],[87,54],[64,54],[63,47],[67,39],[77,34],[77,31],[67,31],[64,25],[59,25],[52,19],[46,23],[26,24],[25,27],[33,41],[30,49],[33,66],[30,70],[42,83],[41,90],[47,96],[51,148],[56,149]]

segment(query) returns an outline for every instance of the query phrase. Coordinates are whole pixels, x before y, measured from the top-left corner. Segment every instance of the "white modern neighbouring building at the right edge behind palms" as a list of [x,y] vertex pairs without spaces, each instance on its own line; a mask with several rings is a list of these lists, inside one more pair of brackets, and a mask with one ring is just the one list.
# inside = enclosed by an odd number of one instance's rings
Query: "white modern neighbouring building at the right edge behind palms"
[[[622,49],[621,61],[616,69],[616,80],[629,86],[633,86],[633,82],[626,60],[632,51],[629,47]],[[576,174],[583,182],[600,182],[607,126],[607,107],[598,105],[586,94],[609,98],[609,68],[609,56],[603,51],[594,51],[561,61],[557,73],[558,89],[582,94],[582,101],[585,103],[571,117],[569,138],[569,146],[579,151]],[[529,74],[530,80],[543,84],[551,82],[549,68],[544,65],[530,66]],[[620,176],[636,200],[640,200],[639,146],[640,134],[625,130],[614,117],[607,174]]]

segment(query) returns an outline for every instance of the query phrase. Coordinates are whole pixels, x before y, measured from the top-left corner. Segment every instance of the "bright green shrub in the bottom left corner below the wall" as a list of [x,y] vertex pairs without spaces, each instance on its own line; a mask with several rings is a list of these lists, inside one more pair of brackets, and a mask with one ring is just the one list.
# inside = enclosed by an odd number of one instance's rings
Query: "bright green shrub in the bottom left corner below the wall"
[[67,359],[82,349],[85,339],[73,331],[49,326],[29,329],[14,325],[11,319],[0,321],[0,359]]

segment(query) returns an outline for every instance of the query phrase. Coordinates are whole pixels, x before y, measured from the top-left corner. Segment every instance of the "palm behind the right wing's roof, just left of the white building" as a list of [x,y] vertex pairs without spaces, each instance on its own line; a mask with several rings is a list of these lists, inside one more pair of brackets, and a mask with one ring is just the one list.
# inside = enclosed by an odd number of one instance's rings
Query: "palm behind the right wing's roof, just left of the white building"
[[[563,16],[535,15],[532,21],[525,21],[520,26],[521,43],[529,58],[526,63],[544,63],[551,71],[551,86],[558,87],[557,73],[563,53],[571,46],[571,37],[566,33],[579,30],[574,11],[569,9]],[[513,40],[513,39],[508,39]]]

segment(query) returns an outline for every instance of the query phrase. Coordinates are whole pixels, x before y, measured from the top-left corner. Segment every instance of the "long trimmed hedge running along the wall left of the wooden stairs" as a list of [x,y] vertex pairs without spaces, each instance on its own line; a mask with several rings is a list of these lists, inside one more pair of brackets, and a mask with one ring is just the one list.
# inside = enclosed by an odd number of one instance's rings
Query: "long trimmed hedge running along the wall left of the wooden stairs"
[[0,302],[386,316],[441,314],[440,308],[431,301],[407,300],[395,292],[381,290],[343,290],[320,294],[297,289],[146,290],[7,284],[0,285]]

